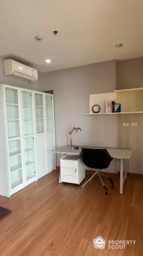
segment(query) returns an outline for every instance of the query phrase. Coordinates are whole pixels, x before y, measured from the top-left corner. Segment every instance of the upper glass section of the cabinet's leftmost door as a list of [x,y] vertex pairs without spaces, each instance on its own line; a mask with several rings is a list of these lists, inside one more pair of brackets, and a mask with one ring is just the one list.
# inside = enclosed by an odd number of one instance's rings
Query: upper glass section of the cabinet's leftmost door
[[5,88],[8,138],[20,137],[18,90]]

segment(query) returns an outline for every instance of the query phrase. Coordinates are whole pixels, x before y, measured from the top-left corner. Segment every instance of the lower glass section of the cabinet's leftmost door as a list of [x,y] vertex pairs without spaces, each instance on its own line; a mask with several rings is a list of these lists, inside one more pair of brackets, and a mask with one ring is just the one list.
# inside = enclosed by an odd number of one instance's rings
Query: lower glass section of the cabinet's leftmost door
[[9,141],[11,189],[23,183],[21,140]]

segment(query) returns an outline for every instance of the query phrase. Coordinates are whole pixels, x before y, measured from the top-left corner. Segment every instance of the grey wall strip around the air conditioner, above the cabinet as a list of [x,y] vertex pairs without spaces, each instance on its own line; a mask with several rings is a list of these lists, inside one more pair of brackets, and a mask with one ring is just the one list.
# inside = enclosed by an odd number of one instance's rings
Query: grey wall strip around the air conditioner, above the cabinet
[[3,58],[0,58],[0,84],[8,84],[12,86],[17,86],[29,90],[41,91],[41,87],[43,84],[43,73],[38,72],[38,81],[36,83],[26,83],[20,80],[16,80],[13,78],[5,77],[4,76],[4,69],[3,69]]

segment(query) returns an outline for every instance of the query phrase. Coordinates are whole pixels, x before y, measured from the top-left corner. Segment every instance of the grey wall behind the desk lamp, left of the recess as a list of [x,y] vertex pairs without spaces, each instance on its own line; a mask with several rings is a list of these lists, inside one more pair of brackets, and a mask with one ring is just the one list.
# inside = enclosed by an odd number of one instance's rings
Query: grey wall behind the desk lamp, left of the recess
[[116,117],[86,115],[89,94],[115,90],[114,60],[47,72],[43,76],[43,90],[54,90],[57,147],[69,143],[68,132],[73,126],[82,129],[77,134],[73,132],[76,145],[117,146]]

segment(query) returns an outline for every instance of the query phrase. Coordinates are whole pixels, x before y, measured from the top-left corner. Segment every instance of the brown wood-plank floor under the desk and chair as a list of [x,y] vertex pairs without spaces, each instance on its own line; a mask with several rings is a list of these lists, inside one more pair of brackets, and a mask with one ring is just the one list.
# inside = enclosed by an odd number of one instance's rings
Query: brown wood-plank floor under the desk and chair
[[[128,174],[119,195],[119,175],[109,195],[98,177],[87,185],[58,183],[56,170],[0,206],[12,214],[0,220],[0,256],[142,256],[143,177]],[[111,176],[110,176],[111,177]],[[95,249],[93,239],[136,240],[125,249]]]

